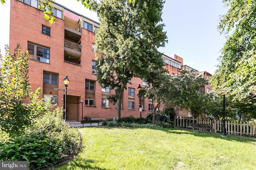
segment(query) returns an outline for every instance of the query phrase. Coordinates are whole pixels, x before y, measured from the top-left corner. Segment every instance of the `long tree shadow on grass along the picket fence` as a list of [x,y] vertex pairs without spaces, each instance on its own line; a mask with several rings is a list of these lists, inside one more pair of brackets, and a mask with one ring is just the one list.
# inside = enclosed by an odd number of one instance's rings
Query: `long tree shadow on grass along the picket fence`
[[[161,130],[161,129],[159,129]],[[235,136],[235,135],[227,135],[226,137],[222,136],[222,133],[208,133],[206,131],[204,132],[196,132],[196,131],[188,131],[187,129],[162,129],[162,131],[166,131],[167,133],[175,133],[175,134],[188,134],[188,135],[194,135],[196,137],[214,137],[218,139],[225,139],[228,141],[237,141],[237,142],[243,142],[243,143],[250,143],[250,142],[256,142],[255,138],[250,137],[243,137],[243,136]]]

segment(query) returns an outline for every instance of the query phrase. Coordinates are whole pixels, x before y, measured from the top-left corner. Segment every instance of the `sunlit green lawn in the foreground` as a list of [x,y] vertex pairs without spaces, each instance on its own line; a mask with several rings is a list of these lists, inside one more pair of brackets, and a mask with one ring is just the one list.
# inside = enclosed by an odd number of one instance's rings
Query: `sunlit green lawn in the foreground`
[[253,170],[256,142],[177,129],[82,128],[84,149],[58,170]]

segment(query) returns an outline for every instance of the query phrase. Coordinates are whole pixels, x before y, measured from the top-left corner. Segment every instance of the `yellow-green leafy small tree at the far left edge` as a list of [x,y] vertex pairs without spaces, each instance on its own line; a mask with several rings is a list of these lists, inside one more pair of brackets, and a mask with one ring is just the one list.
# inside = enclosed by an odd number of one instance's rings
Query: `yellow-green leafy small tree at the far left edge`
[[[28,82],[28,51],[22,53],[17,44],[11,55],[6,45],[6,55],[0,53],[0,128],[10,135],[19,135],[34,117],[44,112],[44,103],[38,102],[40,89],[30,92]],[[30,97],[30,104],[22,100]]]

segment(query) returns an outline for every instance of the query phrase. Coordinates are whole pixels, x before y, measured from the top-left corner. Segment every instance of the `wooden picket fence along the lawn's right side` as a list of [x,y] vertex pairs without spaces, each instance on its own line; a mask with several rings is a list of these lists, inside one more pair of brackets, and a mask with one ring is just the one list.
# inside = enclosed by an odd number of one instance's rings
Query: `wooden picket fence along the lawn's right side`
[[[188,127],[188,123],[200,123],[200,124],[210,124],[212,125],[212,132],[218,133],[222,131],[222,120],[215,119],[202,119],[200,117],[175,117],[174,118],[174,126],[175,127]],[[250,135],[253,136],[256,134],[255,121],[252,119],[251,121],[247,121],[244,123],[236,123],[236,122],[225,122],[226,133],[230,135]],[[205,129],[201,129],[202,131],[206,131]]]

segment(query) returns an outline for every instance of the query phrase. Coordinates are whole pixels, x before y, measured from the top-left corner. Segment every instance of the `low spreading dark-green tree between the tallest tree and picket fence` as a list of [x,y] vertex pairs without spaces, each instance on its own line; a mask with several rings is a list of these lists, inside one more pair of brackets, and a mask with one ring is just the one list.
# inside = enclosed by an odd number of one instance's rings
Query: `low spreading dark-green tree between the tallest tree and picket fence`
[[154,106],[153,117],[159,104],[168,103],[172,107],[188,109],[192,114],[206,113],[208,94],[200,92],[200,86],[208,82],[196,72],[180,71],[176,75],[159,76],[158,83],[154,82],[142,92],[147,98],[157,102]]

